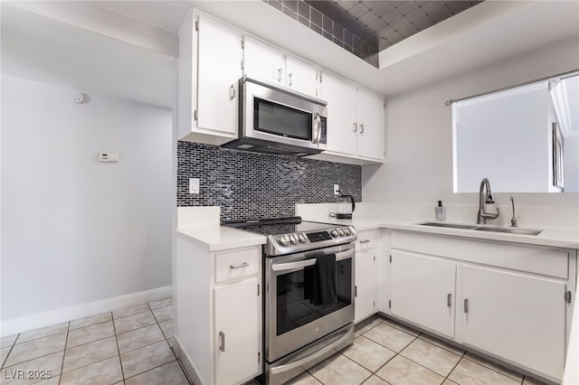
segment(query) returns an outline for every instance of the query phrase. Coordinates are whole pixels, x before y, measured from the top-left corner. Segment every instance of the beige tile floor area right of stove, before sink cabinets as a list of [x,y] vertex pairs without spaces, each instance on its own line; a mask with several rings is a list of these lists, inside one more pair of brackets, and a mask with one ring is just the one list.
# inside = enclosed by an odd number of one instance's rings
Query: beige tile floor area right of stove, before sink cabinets
[[354,344],[290,380],[299,385],[536,385],[542,382],[375,316]]

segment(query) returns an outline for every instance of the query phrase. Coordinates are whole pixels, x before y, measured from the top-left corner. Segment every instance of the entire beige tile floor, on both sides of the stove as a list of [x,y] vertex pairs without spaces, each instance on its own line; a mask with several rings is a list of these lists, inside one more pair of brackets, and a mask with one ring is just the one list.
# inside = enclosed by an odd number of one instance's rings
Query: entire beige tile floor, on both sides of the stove
[[[0,341],[0,383],[187,385],[170,348],[172,334],[173,303],[167,298],[10,335]],[[51,371],[52,378],[11,379],[18,370]],[[289,383],[541,384],[378,316],[356,326],[353,345]]]

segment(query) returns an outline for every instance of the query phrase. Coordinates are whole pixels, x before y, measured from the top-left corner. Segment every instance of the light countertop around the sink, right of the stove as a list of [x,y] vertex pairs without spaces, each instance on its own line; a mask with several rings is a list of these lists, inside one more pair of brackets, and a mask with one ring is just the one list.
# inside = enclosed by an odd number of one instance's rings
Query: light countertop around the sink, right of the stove
[[[337,220],[336,218],[332,218],[327,215],[314,215],[311,217],[304,216],[303,220],[352,225],[358,231],[370,229],[406,230],[406,231],[418,231],[434,235],[446,235],[452,237],[464,237],[482,240],[485,239],[500,240],[505,242],[526,243],[529,245],[550,246],[555,248],[579,249],[579,231],[568,229],[544,229],[544,230],[536,229],[543,231],[539,235],[522,235],[522,234],[509,234],[493,231],[461,230],[461,229],[422,226],[417,223],[425,222],[423,220],[421,221],[405,218],[356,216],[356,213],[354,214],[352,220]],[[474,223],[462,223],[462,224],[474,225]],[[494,227],[493,225],[488,226]],[[520,227],[520,229],[526,228]]]

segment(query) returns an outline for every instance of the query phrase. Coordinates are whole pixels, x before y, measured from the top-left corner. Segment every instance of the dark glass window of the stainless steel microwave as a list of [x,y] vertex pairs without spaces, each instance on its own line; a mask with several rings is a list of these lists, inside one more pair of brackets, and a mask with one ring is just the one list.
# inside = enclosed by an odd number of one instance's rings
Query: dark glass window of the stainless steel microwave
[[253,99],[253,129],[269,134],[312,140],[311,113]]

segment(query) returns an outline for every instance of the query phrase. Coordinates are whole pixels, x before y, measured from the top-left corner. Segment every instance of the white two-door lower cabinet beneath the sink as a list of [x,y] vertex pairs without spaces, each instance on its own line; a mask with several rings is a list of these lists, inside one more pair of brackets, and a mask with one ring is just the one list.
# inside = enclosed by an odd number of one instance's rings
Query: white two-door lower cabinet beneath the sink
[[393,231],[390,315],[562,380],[577,252]]

